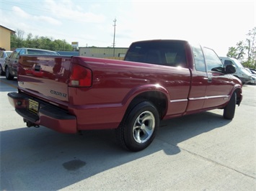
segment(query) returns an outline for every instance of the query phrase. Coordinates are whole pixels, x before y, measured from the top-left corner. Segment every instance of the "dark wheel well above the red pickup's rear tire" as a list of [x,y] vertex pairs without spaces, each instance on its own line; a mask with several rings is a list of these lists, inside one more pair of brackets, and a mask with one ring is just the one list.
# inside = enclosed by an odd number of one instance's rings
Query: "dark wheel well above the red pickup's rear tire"
[[138,103],[141,103],[142,101],[150,101],[153,103],[159,112],[160,118],[163,118],[167,112],[167,97],[164,95],[164,93],[158,91],[149,91],[137,95],[135,98],[133,98],[133,101],[131,101],[128,110],[136,106]]

